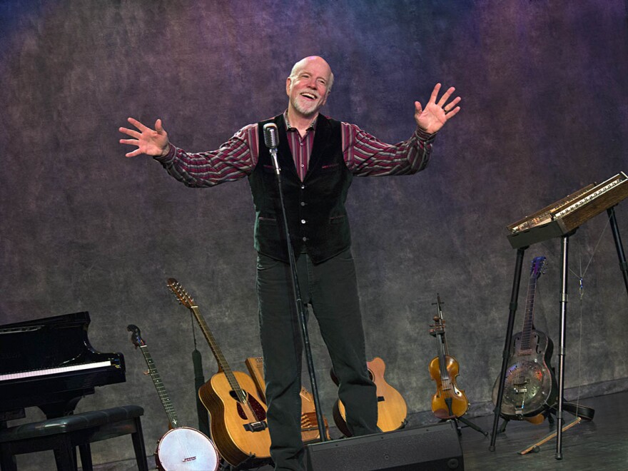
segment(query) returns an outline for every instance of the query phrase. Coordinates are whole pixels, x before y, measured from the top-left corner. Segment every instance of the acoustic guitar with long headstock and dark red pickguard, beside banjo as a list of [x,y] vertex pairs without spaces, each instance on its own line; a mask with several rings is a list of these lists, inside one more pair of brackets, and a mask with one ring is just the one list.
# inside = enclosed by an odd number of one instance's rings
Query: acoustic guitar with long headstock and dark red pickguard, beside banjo
[[168,278],[168,288],[192,311],[218,363],[218,373],[198,389],[211,418],[211,437],[218,452],[236,467],[270,457],[266,406],[255,392],[255,383],[246,373],[231,370],[198,306],[178,281]]

